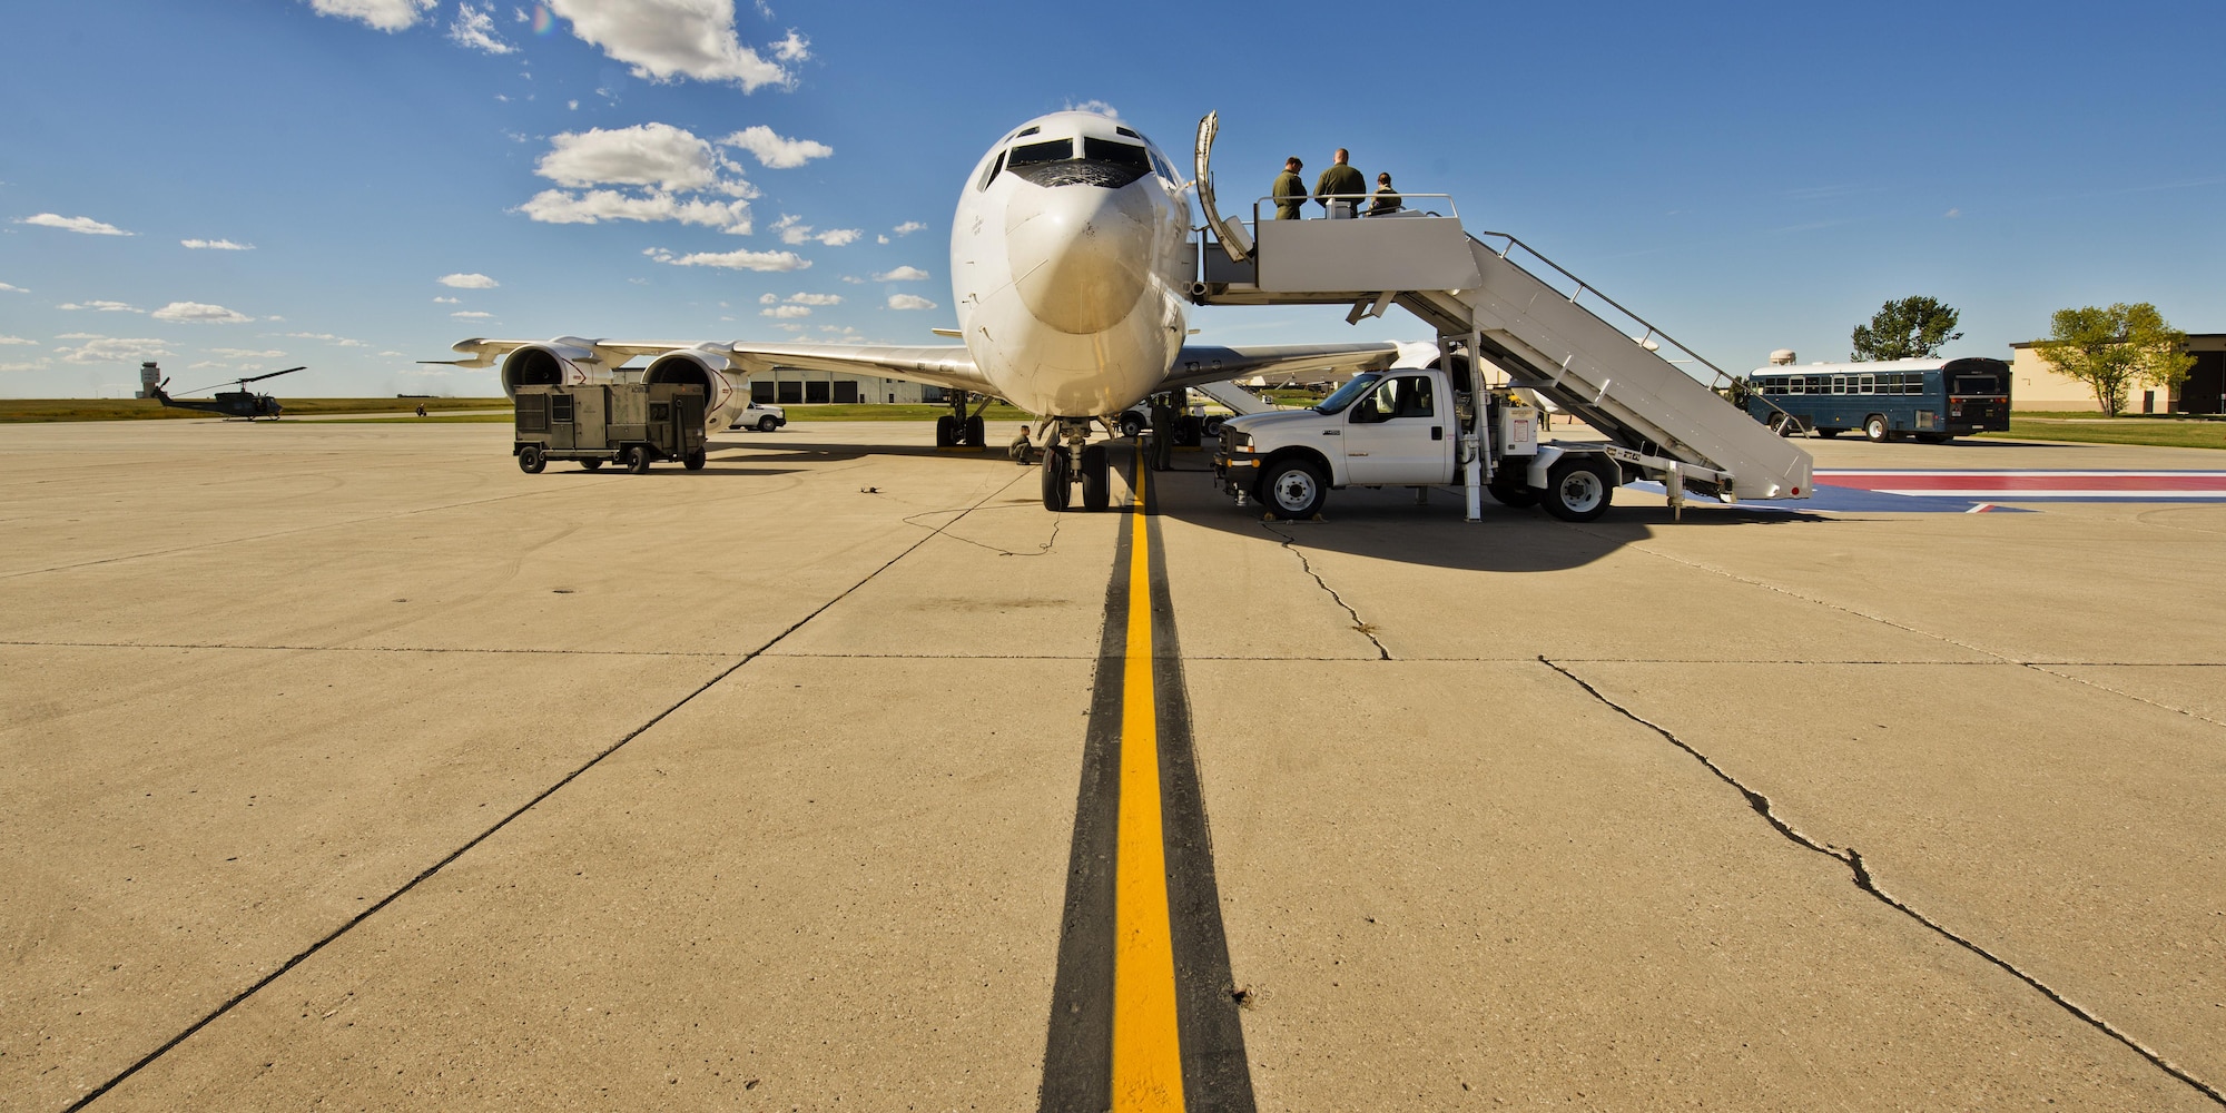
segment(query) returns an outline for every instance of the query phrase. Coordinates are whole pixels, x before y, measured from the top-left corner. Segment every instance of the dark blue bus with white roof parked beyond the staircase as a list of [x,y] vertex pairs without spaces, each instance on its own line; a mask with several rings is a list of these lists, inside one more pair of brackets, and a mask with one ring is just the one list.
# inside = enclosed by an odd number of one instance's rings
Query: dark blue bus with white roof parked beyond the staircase
[[1897,358],[1761,367],[1743,383],[1743,405],[1781,436],[1948,441],[2010,427],[2010,365],[1999,358]]

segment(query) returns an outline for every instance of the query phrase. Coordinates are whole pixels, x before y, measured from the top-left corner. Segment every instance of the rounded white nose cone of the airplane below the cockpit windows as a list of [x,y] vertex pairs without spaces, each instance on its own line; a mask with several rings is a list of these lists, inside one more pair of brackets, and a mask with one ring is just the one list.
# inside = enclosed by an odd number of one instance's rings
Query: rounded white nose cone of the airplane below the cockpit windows
[[1104,332],[1126,318],[1151,285],[1151,240],[1142,189],[1020,189],[1004,216],[1020,298],[1060,332]]

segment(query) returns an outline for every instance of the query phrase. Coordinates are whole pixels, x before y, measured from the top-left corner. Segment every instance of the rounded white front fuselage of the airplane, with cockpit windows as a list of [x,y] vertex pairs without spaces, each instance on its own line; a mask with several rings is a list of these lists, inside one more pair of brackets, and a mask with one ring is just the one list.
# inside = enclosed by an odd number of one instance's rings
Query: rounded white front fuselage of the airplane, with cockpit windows
[[975,165],[951,225],[951,296],[975,367],[1031,414],[1135,405],[1182,349],[1189,232],[1189,187],[1120,120],[1020,125]]

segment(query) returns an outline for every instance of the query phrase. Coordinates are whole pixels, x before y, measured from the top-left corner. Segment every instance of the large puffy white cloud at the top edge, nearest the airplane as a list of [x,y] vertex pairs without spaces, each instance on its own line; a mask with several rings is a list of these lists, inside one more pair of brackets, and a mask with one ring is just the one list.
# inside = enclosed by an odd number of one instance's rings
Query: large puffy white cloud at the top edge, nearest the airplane
[[[746,93],[795,85],[784,65],[735,38],[735,0],[548,0],[548,7],[572,20],[581,42],[601,47],[643,80],[719,80]],[[781,62],[801,62],[810,56],[806,47],[790,31],[772,51]]]

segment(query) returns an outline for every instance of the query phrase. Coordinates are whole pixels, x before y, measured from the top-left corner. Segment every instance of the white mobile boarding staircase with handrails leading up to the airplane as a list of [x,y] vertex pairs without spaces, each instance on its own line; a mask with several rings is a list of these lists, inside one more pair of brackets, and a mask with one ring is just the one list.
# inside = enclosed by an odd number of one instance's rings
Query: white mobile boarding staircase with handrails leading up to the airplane
[[1260,220],[1260,198],[1251,227],[1224,220],[1209,176],[1213,129],[1213,116],[1198,129],[1206,227],[1195,303],[1349,305],[1353,323],[1398,305],[1440,347],[1483,356],[1511,387],[1607,434],[1672,501],[1687,487],[1721,501],[1810,496],[1810,454],[1727,401],[1736,376],[1523,240],[1469,234],[1442,194],[1407,194],[1402,216],[1353,220]]

